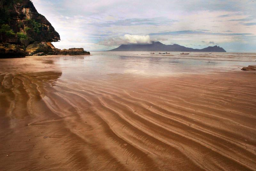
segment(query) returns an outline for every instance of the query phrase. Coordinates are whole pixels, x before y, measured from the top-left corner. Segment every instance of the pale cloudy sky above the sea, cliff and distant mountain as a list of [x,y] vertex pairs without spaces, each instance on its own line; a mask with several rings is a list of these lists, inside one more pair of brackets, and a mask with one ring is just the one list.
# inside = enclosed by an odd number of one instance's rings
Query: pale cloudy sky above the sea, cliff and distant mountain
[[256,0],[32,0],[60,34],[56,48],[164,44],[256,52]]

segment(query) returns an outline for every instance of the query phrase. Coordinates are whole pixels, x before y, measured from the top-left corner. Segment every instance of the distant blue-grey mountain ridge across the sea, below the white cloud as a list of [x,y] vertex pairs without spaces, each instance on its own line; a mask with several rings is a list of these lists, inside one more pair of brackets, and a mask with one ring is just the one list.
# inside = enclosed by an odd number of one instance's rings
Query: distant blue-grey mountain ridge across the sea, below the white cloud
[[220,46],[209,46],[204,49],[193,49],[178,44],[166,45],[161,42],[152,44],[122,44],[118,48],[109,51],[182,51],[182,52],[226,52]]

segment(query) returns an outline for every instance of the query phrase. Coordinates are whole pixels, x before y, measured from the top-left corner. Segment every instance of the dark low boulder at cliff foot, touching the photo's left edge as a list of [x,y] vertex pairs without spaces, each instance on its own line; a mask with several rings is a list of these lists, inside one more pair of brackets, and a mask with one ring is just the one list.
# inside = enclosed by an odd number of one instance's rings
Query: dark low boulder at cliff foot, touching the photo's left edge
[[16,44],[0,44],[0,58],[24,58],[28,53]]

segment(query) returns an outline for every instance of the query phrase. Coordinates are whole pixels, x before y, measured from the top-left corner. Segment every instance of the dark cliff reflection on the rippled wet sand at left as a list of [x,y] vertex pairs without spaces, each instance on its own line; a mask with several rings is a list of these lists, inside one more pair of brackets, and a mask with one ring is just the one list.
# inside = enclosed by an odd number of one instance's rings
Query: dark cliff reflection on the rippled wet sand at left
[[[2,113],[11,119],[33,116],[32,108],[44,97],[43,87],[53,86],[61,72],[38,72],[0,75]],[[5,109],[5,110],[4,110]]]

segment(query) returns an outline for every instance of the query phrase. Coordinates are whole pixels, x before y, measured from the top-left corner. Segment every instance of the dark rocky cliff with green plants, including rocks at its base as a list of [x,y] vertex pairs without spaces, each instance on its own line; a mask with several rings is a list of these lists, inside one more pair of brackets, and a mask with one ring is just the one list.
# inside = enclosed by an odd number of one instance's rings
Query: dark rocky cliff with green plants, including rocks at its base
[[2,0],[0,8],[0,58],[59,54],[51,42],[59,41],[60,35],[30,0]]

